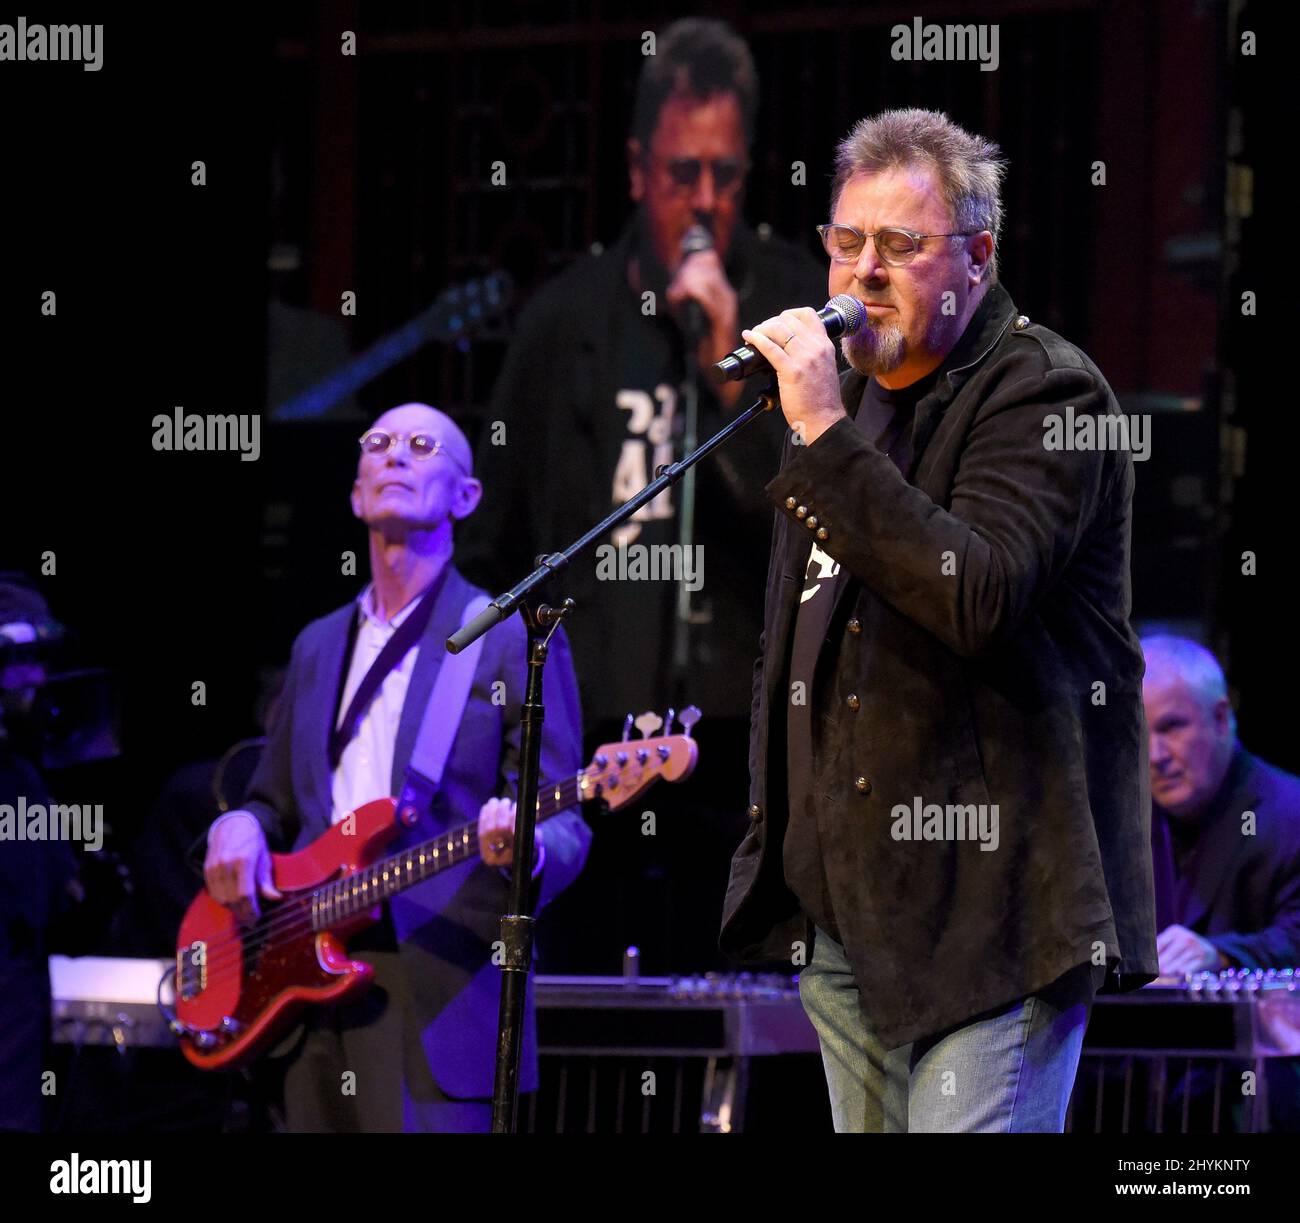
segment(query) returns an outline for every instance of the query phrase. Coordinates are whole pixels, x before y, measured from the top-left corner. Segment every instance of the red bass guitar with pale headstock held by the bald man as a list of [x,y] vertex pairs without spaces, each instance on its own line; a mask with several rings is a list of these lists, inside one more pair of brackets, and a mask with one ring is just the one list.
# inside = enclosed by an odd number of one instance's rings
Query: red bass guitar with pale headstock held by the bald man
[[[660,777],[688,777],[698,753],[690,723],[684,712],[686,734],[606,743],[576,776],[542,784],[538,821],[586,799],[615,810]],[[190,1062],[204,1070],[244,1064],[306,1007],[369,985],[374,970],[348,958],[347,938],[380,919],[387,897],[478,854],[472,823],[380,858],[402,827],[396,801],[378,798],[296,854],[272,854],[272,880],[285,898],[263,902],[247,928],[207,888],[195,897],[177,940],[172,1020]]]

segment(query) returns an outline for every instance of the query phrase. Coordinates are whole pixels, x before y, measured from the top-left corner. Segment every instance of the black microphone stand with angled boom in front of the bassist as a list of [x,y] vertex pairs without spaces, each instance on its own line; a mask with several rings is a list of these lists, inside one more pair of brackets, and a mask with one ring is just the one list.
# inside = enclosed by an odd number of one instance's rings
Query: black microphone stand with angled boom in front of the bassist
[[[546,665],[547,641],[559,621],[573,610],[573,600],[564,599],[560,608],[541,602],[541,587],[559,574],[568,563],[606,537],[615,526],[632,517],[642,506],[671,489],[701,459],[740,433],[746,425],[777,406],[776,378],[731,424],[724,425],[698,450],[677,463],[670,463],[640,493],[624,502],[606,519],[573,541],[563,552],[538,560],[537,568],[516,586],[493,599],[473,620],[447,638],[447,650],[459,654],[490,628],[516,611],[528,629],[528,688],[524,697],[519,776],[519,806],[515,814],[515,869],[510,880],[510,911],[500,919],[504,944],[502,964],[500,1010],[497,1028],[497,1070],[493,1083],[491,1132],[514,1133],[519,1122],[519,1059],[524,1027],[524,998],[533,962],[533,862],[536,859],[537,786],[542,756],[542,669]],[[520,851],[523,850],[523,855]]]

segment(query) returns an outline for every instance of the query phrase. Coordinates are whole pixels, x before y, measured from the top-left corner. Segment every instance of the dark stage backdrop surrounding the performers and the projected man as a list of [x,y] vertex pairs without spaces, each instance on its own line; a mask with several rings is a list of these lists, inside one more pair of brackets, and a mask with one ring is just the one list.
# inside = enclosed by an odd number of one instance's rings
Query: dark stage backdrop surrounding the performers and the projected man
[[[833,144],[854,120],[935,107],[1002,146],[1004,282],[1093,356],[1126,411],[1154,417],[1138,472],[1135,617],[1216,649],[1247,746],[1297,771],[1284,535],[1266,500],[1283,408],[1258,321],[1238,304],[1262,263],[1254,68],[1236,49],[1260,9],[924,5],[930,22],[1000,25],[991,73],[893,61],[889,27],[911,22],[907,5],[719,4],[708,16],[750,42],[760,74],[746,217],[810,252]],[[144,19],[118,8],[83,18],[105,22],[101,71],[4,65],[0,559],[38,574],[53,554],[40,582],[55,615],[75,630],[77,658],[116,677],[122,754],[53,781],[66,802],[104,803],[122,854],[169,776],[255,732],[259,673],[287,659],[298,629],[356,593],[339,556],[356,550],[364,572],[346,495],[360,426],[424,399],[473,441],[517,308],[619,233],[642,31],[690,12],[332,0]],[[359,32],[356,57],[339,55],[344,29]],[[489,182],[497,160],[504,186]],[[792,185],[794,161],[806,186]],[[429,343],[321,418],[276,417],[447,286],[502,268],[511,311],[472,343]],[[47,290],[55,317],[39,311]],[[355,317],[339,313],[347,290]],[[153,451],[153,416],[178,404],[263,413],[260,460]],[[1243,550],[1260,576],[1242,576]],[[642,945],[646,971],[719,966],[744,733],[707,721],[699,733],[710,750],[696,795],[734,820],[664,821],[655,838],[601,821],[589,879],[554,918],[566,937],[543,936],[550,967],[618,971],[627,942]],[[75,949],[100,937],[82,923]]]

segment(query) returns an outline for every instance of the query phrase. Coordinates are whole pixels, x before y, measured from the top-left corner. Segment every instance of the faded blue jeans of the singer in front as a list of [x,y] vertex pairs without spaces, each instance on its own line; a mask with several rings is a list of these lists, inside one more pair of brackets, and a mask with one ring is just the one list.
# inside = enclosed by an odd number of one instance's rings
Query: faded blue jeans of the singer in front
[[844,947],[818,929],[800,1001],[822,1045],[836,1132],[1060,1133],[1093,989],[1092,966],[1079,964],[998,1011],[885,1049]]

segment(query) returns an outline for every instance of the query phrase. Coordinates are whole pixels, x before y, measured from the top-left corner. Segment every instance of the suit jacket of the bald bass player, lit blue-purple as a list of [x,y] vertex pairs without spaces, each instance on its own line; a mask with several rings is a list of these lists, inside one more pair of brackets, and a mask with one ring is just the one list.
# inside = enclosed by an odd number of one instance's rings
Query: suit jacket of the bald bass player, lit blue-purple
[[[434,603],[402,707],[393,754],[393,794],[402,788],[425,706],[446,658],[443,643],[460,625],[465,604],[480,593],[452,568]],[[348,665],[347,641],[356,615],[356,604],[348,603],[312,621],[294,642],[276,724],[244,802],[274,850],[303,849],[330,827],[326,747],[338,716]],[[469,701],[433,810],[394,849],[477,819],[478,808],[494,795],[517,797],[525,676],[526,634],[514,616],[482,639]],[[577,681],[563,630],[551,641],[543,699],[545,781],[572,775],[582,764]],[[577,877],[590,838],[590,829],[576,811],[538,825],[538,842],[545,847],[538,908]],[[393,901],[402,963],[421,1024],[420,1042],[433,1077],[448,1096],[491,1094],[500,996],[500,971],[491,963],[491,944],[500,937],[498,923],[507,899],[504,873],[473,859]],[[520,1089],[532,1090],[536,1084],[536,1023],[529,994]]]

